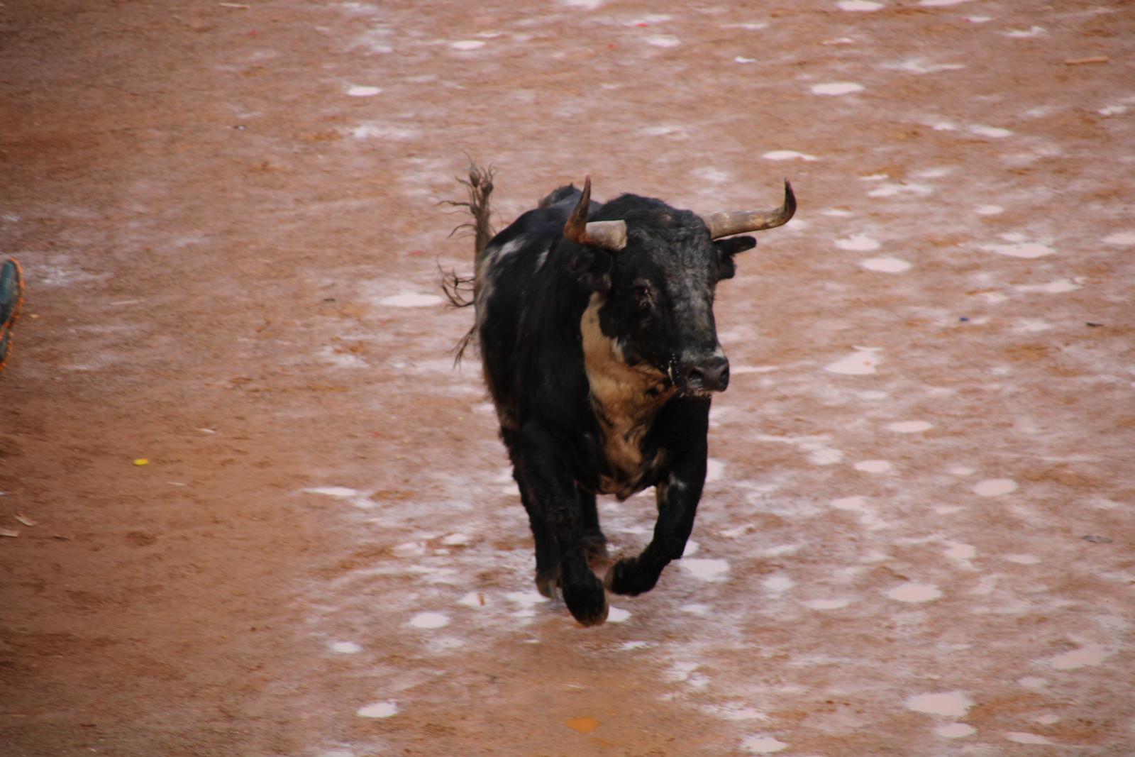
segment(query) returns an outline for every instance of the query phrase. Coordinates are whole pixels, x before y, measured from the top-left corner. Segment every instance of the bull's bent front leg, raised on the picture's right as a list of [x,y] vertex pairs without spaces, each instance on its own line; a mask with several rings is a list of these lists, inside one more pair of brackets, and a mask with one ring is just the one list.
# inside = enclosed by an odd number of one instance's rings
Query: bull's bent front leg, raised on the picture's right
[[615,594],[637,595],[658,582],[663,569],[686,552],[693,530],[701,487],[706,479],[706,448],[696,449],[678,461],[665,479],[655,486],[658,520],[654,538],[638,557],[623,557],[611,566],[603,583]]

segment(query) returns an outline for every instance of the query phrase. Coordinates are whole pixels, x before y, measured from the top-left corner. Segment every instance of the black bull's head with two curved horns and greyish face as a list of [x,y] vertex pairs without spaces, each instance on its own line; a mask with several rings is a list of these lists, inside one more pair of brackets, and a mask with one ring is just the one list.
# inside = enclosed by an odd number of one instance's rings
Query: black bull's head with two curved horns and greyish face
[[[657,200],[620,197],[588,220],[591,178],[564,225],[564,236],[611,253],[580,261],[581,280],[604,294],[599,328],[623,362],[665,376],[683,394],[705,395],[729,386],[729,360],[717,342],[714,289],[735,270],[733,255],[753,249],[751,236],[787,224],[796,212],[792,187],[770,211],[698,216]],[[731,237],[731,238],[723,238]],[[597,253],[596,256],[602,253]],[[606,276],[595,274],[605,271]]]

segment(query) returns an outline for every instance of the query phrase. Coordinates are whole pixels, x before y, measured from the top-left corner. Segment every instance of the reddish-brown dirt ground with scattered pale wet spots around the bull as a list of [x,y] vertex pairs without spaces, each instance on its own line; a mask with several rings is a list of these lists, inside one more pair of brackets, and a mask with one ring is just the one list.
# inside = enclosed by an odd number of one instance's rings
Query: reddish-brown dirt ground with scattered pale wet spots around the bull
[[[0,3],[0,754],[1135,755],[1133,52],[1120,0]],[[463,153],[502,227],[800,201],[598,629],[452,368]]]

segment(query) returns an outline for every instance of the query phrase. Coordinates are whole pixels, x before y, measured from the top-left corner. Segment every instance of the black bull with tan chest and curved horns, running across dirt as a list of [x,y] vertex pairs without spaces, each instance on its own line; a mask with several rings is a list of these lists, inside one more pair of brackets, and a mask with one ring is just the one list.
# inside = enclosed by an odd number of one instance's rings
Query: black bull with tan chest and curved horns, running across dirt
[[[466,183],[477,236],[472,301],[485,382],[536,540],[536,586],[561,587],[583,625],[607,617],[606,589],[649,591],[682,556],[706,474],[714,392],[729,385],[714,289],[751,236],[796,211],[791,186],[771,211],[698,216],[624,194],[590,202],[560,187],[494,236],[491,174]],[[729,238],[724,238],[729,237]],[[447,293],[470,304],[451,276]],[[606,554],[595,497],[655,488],[654,537],[600,582],[589,557]]]

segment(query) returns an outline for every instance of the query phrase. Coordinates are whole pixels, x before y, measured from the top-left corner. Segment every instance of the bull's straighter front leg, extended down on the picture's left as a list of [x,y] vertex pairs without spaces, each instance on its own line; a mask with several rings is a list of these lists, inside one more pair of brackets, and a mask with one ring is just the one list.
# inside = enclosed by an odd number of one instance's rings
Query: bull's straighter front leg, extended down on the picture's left
[[598,625],[607,620],[607,595],[587,564],[583,533],[590,519],[585,518],[586,503],[575,488],[565,441],[538,422],[526,423],[520,436],[516,454],[522,460],[520,471],[526,479],[522,487],[560,546],[564,604],[583,625]]

